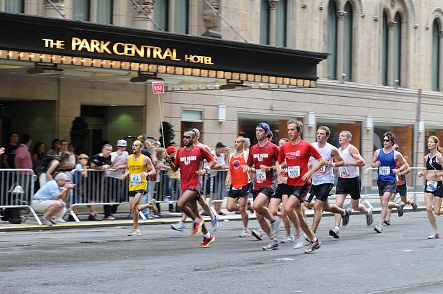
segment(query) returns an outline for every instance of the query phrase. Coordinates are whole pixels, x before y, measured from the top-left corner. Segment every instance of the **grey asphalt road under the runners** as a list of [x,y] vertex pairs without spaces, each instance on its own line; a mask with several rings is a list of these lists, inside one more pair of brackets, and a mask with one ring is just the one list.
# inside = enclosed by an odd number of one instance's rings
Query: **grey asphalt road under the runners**
[[426,212],[393,217],[382,234],[363,215],[341,239],[332,225],[323,218],[311,255],[264,251],[266,241],[237,237],[239,221],[223,222],[210,248],[189,224],[142,226],[140,237],[127,226],[0,232],[0,293],[443,293],[443,239],[426,239]]

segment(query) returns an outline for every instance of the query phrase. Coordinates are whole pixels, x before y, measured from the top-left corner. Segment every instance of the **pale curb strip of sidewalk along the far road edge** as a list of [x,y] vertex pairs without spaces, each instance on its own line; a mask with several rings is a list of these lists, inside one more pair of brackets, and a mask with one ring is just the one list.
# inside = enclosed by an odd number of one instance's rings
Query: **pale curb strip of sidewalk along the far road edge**
[[[426,210],[426,207],[424,205],[419,205],[417,211],[420,210]],[[380,214],[381,208],[374,208],[373,212],[374,214]],[[406,206],[404,208],[404,212],[413,212],[413,209],[410,208],[410,206]],[[138,221],[139,226],[147,226],[147,225],[159,225],[159,224],[170,224],[170,223],[177,223],[181,219],[181,213],[177,212],[163,212],[165,214],[165,217],[159,217],[157,219],[147,219],[142,220],[140,219]],[[392,212],[393,214],[397,215],[397,210],[394,210]],[[9,223],[8,221],[0,221],[0,232],[12,232],[12,231],[25,231],[25,230],[64,230],[64,229],[71,229],[71,228],[98,228],[98,227],[115,227],[115,226],[132,226],[132,219],[129,219],[129,213],[128,212],[121,212],[114,214],[114,217],[116,217],[115,220],[112,221],[88,221],[86,214],[79,215],[80,223],[76,223],[75,221],[66,221],[66,223],[58,223],[53,226],[39,226],[37,221],[33,218],[31,215],[28,217],[28,219],[25,221],[25,223],[20,224],[14,224]],[[313,217],[314,210],[305,210],[305,214],[307,217]],[[352,214],[360,214],[360,212],[352,212]],[[332,217],[333,214],[330,212],[323,213],[323,217]],[[84,220],[86,219],[86,220]],[[210,221],[209,217],[203,217],[205,221]],[[249,214],[249,219],[256,219],[255,214]],[[220,216],[220,221],[241,221],[242,215],[241,214],[235,214],[233,212],[226,212],[226,215]],[[188,220],[186,223],[190,223],[191,221]]]

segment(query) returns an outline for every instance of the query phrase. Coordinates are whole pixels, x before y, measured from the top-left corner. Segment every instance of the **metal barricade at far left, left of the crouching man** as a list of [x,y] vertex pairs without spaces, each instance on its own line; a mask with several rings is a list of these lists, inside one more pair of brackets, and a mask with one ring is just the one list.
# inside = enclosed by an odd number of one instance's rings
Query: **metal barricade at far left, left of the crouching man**
[[[35,180],[33,169],[0,169],[0,208],[27,208],[29,213],[25,221],[33,214],[37,223],[42,225],[42,221],[30,205],[34,196]],[[17,185],[23,192],[12,190]]]

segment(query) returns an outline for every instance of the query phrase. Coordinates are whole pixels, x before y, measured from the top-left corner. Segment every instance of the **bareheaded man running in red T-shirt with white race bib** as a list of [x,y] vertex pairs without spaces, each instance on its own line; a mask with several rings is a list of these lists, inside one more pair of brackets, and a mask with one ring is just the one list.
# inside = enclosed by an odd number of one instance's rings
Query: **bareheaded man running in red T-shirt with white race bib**
[[[287,167],[289,198],[286,205],[284,205],[284,210],[286,210],[294,226],[297,226],[297,219],[300,221],[300,227],[311,242],[305,253],[312,253],[320,248],[320,240],[316,238],[314,232],[309,228],[302,213],[301,203],[311,186],[310,178],[312,174],[325,165],[325,160],[314,146],[300,138],[303,131],[303,124],[300,120],[288,120],[287,128],[290,141],[284,143],[280,148],[278,162],[275,165],[278,172],[280,172],[281,168]],[[318,160],[318,163],[309,169],[308,163],[311,156]]]

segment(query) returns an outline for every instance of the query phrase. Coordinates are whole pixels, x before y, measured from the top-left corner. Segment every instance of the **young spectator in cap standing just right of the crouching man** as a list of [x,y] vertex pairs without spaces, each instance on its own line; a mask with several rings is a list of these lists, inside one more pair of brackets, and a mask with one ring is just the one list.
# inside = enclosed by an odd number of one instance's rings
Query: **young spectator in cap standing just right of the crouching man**
[[[78,163],[75,165],[75,172],[73,174],[74,183],[77,184],[78,189],[75,190],[74,197],[71,201],[71,205],[74,203],[83,203],[83,197],[87,196],[87,182],[88,177],[88,160],[89,156],[87,154],[80,154],[78,156]],[[87,203],[93,203],[87,199]],[[96,205],[89,206],[89,221],[102,221],[103,219],[98,215],[96,211]],[[72,208],[73,212],[77,213],[77,206]],[[69,214],[68,221],[75,221],[71,214]]]

